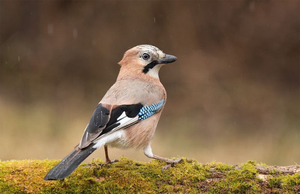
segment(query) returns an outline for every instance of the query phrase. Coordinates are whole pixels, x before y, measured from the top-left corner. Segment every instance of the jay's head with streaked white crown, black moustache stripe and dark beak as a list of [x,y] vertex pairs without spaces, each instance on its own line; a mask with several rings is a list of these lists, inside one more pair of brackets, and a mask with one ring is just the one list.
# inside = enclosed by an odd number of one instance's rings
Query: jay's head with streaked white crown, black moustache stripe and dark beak
[[155,46],[139,45],[125,52],[119,62],[121,65],[120,74],[134,72],[138,75],[148,75],[158,79],[158,71],[161,66],[176,60],[177,57],[164,54]]

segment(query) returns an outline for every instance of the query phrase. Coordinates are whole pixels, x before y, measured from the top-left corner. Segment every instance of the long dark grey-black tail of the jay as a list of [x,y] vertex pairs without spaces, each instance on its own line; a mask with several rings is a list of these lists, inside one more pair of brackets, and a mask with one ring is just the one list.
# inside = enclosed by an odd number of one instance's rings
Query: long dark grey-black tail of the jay
[[96,150],[96,148],[93,148],[94,145],[94,143],[91,143],[85,148],[71,151],[70,154],[49,170],[44,180],[58,180],[69,176],[85,158]]

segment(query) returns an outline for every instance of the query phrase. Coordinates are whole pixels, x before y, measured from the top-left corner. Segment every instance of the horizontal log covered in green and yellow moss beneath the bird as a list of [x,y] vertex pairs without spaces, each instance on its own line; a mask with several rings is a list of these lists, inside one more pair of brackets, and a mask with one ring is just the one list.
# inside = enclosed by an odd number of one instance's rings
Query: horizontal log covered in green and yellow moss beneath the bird
[[300,166],[267,166],[247,161],[182,161],[161,172],[164,163],[120,157],[100,167],[102,159],[82,163],[67,178],[44,181],[59,160],[0,161],[0,193],[300,193]]

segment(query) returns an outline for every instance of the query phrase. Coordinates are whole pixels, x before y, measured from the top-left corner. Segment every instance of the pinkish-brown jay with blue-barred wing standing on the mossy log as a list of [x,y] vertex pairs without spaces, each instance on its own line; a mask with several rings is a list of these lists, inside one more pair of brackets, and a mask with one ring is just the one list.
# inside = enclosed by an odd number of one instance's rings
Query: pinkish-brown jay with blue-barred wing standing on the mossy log
[[[95,108],[78,145],[47,172],[44,180],[59,180],[69,176],[97,148],[104,146],[105,163],[115,163],[108,157],[108,147],[142,150],[152,159],[166,162],[162,172],[180,158],[167,159],[154,155],[151,140],[167,100],[158,71],[177,57],[165,54],[152,45],[135,46],[125,52],[116,83]],[[102,165],[101,165],[102,166]]]

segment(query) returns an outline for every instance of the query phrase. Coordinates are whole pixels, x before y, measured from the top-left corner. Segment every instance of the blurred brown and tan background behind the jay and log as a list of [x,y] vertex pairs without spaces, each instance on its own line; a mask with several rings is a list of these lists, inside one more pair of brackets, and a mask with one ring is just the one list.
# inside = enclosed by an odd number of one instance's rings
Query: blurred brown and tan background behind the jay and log
[[[178,57],[153,153],[300,163],[299,1],[0,1],[0,159],[62,159],[126,50]],[[142,151],[109,149],[149,161]],[[104,158],[104,148],[88,157]]]

